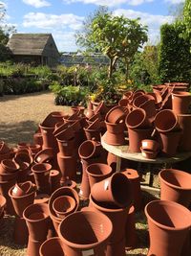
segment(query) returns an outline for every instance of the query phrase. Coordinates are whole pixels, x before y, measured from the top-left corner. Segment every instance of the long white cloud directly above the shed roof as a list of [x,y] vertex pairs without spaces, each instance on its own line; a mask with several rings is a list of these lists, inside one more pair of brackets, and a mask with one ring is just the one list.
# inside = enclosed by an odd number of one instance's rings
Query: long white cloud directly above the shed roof
[[38,29],[66,29],[79,30],[84,17],[69,14],[47,14],[43,12],[29,12],[24,16],[23,26]]

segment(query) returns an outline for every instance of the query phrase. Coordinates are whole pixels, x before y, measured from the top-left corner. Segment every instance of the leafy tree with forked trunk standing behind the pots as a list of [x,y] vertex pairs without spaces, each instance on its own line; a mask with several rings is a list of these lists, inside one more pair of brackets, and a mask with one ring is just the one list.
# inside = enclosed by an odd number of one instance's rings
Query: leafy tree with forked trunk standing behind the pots
[[147,27],[138,19],[115,16],[107,8],[100,7],[83,24],[77,33],[76,43],[86,51],[99,52],[110,59],[108,78],[112,78],[117,60],[123,60],[128,78],[129,64],[147,41]]

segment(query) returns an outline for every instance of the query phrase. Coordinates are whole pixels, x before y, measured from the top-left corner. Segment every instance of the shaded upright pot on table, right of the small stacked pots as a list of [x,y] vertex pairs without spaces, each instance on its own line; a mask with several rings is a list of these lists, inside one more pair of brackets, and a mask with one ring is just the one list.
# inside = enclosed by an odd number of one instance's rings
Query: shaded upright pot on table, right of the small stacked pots
[[159,132],[160,147],[164,155],[173,156],[177,153],[182,131]]

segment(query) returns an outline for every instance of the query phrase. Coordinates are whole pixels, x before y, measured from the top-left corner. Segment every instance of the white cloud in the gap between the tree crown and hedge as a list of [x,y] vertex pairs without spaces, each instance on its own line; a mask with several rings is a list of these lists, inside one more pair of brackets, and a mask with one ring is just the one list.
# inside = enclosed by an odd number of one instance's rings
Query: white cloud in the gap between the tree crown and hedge
[[136,12],[133,10],[117,9],[115,15],[124,15],[127,18],[135,19],[140,17],[140,23],[148,26],[149,40],[156,43],[159,40],[159,27],[164,23],[171,23],[173,16],[154,15],[147,12]]

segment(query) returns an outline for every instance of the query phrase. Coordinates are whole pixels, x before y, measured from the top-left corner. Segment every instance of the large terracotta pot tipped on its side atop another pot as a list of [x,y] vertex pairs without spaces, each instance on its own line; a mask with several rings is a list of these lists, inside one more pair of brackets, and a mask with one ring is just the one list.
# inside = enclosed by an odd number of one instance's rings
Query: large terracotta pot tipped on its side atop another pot
[[130,181],[121,173],[115,173],[97,182],[91,189],[91,195],[98,202],[107,202],[122,208],[132,203]]

